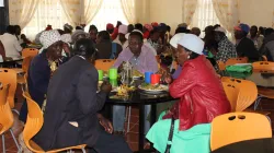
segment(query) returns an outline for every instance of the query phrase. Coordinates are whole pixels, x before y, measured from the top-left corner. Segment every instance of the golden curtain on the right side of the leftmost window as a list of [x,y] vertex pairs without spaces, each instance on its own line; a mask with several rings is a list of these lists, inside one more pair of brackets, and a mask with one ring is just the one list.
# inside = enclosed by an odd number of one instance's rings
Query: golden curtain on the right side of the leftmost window
[[68,23],[76,26],[80,23],[80,0],[60,0],[61,8],[68,19]]

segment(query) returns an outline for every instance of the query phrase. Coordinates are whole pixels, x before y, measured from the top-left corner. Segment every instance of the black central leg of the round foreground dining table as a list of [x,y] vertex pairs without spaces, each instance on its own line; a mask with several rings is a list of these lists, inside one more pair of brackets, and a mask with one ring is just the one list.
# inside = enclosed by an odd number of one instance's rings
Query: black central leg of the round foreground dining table
[[144,151],[144,141],[145,141],[145,105],[139,104],[139,152]]

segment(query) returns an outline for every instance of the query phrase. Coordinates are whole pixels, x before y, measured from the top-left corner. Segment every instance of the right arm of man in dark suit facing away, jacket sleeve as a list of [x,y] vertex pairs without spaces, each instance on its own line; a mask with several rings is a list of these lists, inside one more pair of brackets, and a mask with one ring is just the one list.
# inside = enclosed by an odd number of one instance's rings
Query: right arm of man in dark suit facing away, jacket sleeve
[[79,107],[85,115],[96,114],[104,106],[106,94],[98,91],[98,72],[87,69],[79,78],[77,84],[77,98],[80,101]]

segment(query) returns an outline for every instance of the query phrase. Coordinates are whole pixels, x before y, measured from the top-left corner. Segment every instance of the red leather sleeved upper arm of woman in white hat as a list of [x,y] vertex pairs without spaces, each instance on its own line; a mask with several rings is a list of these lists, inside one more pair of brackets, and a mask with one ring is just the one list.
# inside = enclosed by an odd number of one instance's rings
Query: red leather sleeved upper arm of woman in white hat
[[179,78],[170,84],[170,95],[174,98],[182,97],[194,85],[196,85],[194,68],[192,66],[183,67]]

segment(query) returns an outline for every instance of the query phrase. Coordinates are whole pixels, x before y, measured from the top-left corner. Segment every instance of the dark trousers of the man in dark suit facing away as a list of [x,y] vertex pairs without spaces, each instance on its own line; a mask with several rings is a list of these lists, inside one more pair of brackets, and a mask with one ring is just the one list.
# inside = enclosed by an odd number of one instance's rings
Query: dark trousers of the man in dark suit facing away
[[132,153],[125,139],[102,131],[89,153]]

